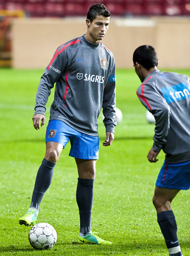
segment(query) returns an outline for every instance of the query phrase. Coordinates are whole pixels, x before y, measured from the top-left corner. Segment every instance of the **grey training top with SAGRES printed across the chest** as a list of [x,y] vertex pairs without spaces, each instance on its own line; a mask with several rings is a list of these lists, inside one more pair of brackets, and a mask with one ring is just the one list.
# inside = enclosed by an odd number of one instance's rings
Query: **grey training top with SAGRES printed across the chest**
[[57,48],[40,80],[34,114],[45,114],[54,83],[50,120],[62,120],[78,132],[98,136],[97,118],[103,107],[106,132],[114,132],[115,61],[102,43],[90,43],[83,35]]

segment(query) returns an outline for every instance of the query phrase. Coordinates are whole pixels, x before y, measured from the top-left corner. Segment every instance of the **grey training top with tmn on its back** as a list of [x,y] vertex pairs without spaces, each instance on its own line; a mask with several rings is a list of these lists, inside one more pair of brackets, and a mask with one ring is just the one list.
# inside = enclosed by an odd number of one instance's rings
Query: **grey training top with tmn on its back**
[[163,149],[167,163],[190,160],[190,78],[155,70],[137,89],[141,103],[156,119],[154,151]]

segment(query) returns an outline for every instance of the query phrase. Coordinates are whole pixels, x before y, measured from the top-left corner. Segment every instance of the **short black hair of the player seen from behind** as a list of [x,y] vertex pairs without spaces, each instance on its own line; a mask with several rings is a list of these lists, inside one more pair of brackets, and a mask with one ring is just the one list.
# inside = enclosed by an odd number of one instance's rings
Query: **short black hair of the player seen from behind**
[[156,50],[151,45],[141,45],[133,53],[133,64],[141,64],[146,70],[158,65]]

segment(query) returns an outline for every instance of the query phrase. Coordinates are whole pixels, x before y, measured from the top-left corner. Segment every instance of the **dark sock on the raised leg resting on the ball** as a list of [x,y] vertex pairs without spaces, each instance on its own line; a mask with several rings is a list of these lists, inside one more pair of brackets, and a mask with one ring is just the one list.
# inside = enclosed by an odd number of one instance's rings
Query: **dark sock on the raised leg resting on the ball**
[[39,211],[40,202],[51,184],[55,165],[56,163],[43,159],[36,175],[30,208],[36,208]]

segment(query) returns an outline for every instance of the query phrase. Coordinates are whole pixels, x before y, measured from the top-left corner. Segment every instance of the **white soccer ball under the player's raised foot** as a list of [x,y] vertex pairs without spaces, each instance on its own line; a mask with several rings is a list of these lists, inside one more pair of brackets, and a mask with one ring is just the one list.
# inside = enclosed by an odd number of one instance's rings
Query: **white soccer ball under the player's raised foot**
[[57,233],[50,224],[38,223],[30,229],[28,239],[35,249],[51,249],[57,241]]

